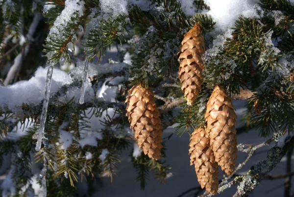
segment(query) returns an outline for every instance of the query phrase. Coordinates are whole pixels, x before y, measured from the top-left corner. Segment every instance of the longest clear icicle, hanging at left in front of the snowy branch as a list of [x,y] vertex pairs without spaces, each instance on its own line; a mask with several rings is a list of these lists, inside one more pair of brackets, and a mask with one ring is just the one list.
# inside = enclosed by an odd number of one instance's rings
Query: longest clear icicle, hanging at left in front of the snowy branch
[[53,68],[54,68],[53,65],[50,65],[47,72],[47,80],[45,84],[45,97],[44,97],[44,103],[43,103],[42,114],[41,114],[40,128],[37,131],[38,137],[37,137],[37,145],[35,148],[36,151],[39,151],[42,145],[42,139],[43,139],[46,116],[47,116],[47,108],[49,103],[49,92],[50,92]]

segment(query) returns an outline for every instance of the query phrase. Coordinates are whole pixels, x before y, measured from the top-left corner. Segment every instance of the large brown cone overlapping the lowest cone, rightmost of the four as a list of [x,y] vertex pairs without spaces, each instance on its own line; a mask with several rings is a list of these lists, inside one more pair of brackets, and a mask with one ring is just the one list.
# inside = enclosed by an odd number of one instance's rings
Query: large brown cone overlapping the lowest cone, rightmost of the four
[[236,166],[237,135],[235,107],[224,88],[216,85],[207,104],[205,119],[216,162],[231,175]]

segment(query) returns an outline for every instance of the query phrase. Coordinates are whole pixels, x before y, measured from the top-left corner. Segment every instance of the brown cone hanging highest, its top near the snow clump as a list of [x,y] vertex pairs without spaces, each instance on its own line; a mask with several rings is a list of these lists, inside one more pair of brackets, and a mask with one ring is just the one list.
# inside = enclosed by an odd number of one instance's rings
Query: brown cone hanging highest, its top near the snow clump
[[205,51],[205,42],[201,34],[201,27],[195,24],[184,36],[181,55],[179,56],[179,79],[182,92],[187,98],[187,104],[192,105],[201,90],[203,83],[203,62],[201,56]]

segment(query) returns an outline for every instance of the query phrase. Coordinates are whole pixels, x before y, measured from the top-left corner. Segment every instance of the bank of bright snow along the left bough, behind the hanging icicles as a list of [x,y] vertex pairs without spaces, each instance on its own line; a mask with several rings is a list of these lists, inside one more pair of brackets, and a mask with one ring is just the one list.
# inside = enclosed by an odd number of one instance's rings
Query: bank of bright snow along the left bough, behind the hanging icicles
[[[72,84],[73,79],[82,80],[83,63],[84,61],[78,61],[77,67],[71,70],[69,74],[58,68],[54,68],[50,85],[50,95],[57,92],[63,85]],[[129,64],[124,62],[112,64],[106,63],[102,65],[89,63],[88,78],[98,75],[98,73],[103,74],[108,72],[119,72],[128,66]],[[12,85],[0,86],[0,108],[8,108],[14,113],[22,113],[23,103],[32,106],[40,104],[45,95],[44,87],[47,71],[48,67],[39,67],[35,72],[34,77],[28,81],[19,81]],[[123,77],[118,77],[113,80],[114,81],[112,81],[111,84],[118,84],[123,81]],[[115,101],[113,98],[115,97],[117,90],[117,86],[108,86],[104,84],[103,91],[99,90],[100,94],[98,93],[98,98],[105,99],[106,101]],[[74,102],[78,103],[80,97],[80,87],[70,86],[68,91],[65,92],[63,96],[58,98],[58,101],[61,103],[67,103],[73,97]],[[92,84],[89,80],[87,80],[85,85],[85,102],[89,102],[94,98],[95,94]]]

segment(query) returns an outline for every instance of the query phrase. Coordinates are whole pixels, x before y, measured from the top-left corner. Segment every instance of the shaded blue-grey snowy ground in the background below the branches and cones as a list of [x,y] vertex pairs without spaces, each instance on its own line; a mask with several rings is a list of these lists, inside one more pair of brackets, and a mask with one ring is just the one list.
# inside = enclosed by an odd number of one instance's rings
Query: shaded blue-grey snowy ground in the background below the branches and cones
[[[238,119],[241,118],[241,114],[245,110],[245,104],[245,101],[234,101],[234,105],[237,108]],[[163,138],[172,134],[173,131],[173,128],[164,130]],[[256,145],[266,141],[267,139],[268,138],[260,138],[258,131],[250,130],[248,133],[242,132],[238,134],[237,140],[238,143]],[[254,156],[249,160],[245,167],[238,172],[238,174],[247,172],[252,165],[264,160],[267,156],[268,150],[273,145],[274,142],[268,146],[258,149]],[[150,172],[145,190],[140,189],[140,182],[136,181],[137,174],[128,156],[131,151],[130,147],[129,150],[124,151],[121,156],[122,162],[118,166],[117,176],[114,177],[113,182],[111,183],[109,178],[103,177],[103,186],[98,189],[93,197],[194,197],[194,193],[197,191],[196,188],[199,187],[199,184],[194,166],[190,166],[190,157],[188,154],[189,135],[183,135],[182,137],[173,135],[170,140],[166,140],[166,148],[166,161],[167,164],[172,167],[172,176],[169,177],[165,183],[159,183],[158,180],[156,180],[152,175],[152,172]],[[243,162],[246,157],[246,153],[238,152],[237,164]],[[270,172],[270,174],[285,173],[285,161],[286,158],[284,157]],[[221,176],[222,173],[220,172],[220,177]],[[232,186],[217,196],[233,196],[236,189],[237,186]],[[293,192],[294,186],[292,186],[292,193]],[[203,191],[198,195],[201,195],[202,193]],[[283,195],[284,179],[275,179],[262,181],[252,192],[250,197],[280,197]]]

